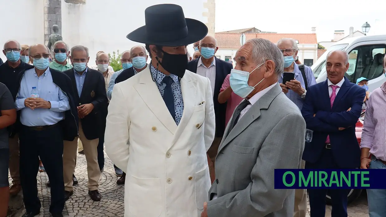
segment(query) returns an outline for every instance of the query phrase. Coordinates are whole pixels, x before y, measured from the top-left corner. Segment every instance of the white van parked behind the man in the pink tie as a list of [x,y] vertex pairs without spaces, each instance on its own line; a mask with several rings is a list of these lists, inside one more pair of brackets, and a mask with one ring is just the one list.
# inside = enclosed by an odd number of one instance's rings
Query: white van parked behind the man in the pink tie
[[349,54],[349,70],[345,76],[356,83],[360,77],[369,80],[369,91],[380,87],[386,77],[383,71],[383,58],[386,51],[386,35],[351,37],[337,41],[312,66],[317,83],[327,79],[326,58],[330,51],[343,50]]

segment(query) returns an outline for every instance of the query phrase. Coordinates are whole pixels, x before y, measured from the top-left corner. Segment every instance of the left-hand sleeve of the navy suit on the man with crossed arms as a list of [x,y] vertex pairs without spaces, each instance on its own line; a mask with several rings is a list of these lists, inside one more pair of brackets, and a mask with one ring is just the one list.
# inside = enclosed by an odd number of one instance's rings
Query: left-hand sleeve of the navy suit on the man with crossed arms
[[303,115],[304,120],[306,121],[307,129],[320,132],[337,132],[338,127],[335,127],[331,124],[322,122],[318,117],[313,115],[316,113],[316,108],[313,105],[313,91],[315,89],[308,89],[306,97],[304,99],[303,108],[301,109],[301,114]]

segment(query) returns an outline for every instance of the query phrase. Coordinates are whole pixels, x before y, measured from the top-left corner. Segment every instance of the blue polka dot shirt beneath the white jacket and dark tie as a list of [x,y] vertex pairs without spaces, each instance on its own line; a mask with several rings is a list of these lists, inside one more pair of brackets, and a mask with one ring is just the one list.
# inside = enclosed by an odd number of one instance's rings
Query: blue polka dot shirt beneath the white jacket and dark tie
[[[159,93],[161,93],[161,96],[164,97],[164,90],[166,87],[166,83],[163,82],[163,79],[165,78],[165,74],[158,71],[154,66],[150,65],[150,71],[151,75],[154,78],[156,78],[156,84],[159,90]],[[182,112],[184,110],[184,100],[182,99],[182,92],[181,92],[181,83],[178,80],[177,75],[168,75],[170,76],[173,81],[171,83],[171,88],[173,91],[174,96],[174,111],[176,112],[176,119],[174,120],[176,124],[178,125],[182,118]]]

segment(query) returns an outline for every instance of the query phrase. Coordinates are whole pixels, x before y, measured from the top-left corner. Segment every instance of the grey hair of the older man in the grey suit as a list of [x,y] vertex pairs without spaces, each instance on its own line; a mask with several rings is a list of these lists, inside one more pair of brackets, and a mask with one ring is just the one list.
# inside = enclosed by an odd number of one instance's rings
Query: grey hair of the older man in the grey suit
[[252,44],[252,59],[256,64],[264,63],[267,60],[272,60],[275,63],[276,75],[281,75],[284,71],[283,53],[271,41],[267,39],[251,39],[245,44]]

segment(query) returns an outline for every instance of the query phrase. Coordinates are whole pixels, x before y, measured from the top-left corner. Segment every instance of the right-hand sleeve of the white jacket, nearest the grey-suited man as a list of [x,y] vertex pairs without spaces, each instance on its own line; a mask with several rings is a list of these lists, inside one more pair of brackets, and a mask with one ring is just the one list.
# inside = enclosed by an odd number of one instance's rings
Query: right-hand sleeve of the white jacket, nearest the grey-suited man
[[204,122],[204,141],[205,149],[208,151],[215,138],[215,109],[213,105],[212,87],[210,86],[210,80],[207,79],[207,90],[205,92],[205,122]]

